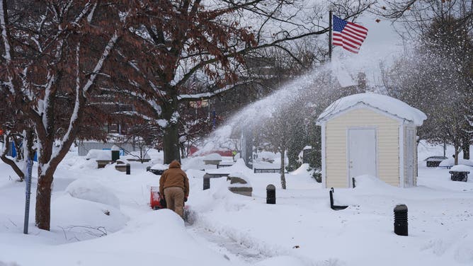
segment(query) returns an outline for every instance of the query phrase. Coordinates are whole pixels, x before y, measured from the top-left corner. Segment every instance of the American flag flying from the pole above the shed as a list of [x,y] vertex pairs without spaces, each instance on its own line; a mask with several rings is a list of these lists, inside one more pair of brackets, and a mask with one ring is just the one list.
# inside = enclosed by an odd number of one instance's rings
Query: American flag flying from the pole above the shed
[[343,21],[334,16],[334,45],[358,54],[361,44],[368,34],[368,29],[362,25]]

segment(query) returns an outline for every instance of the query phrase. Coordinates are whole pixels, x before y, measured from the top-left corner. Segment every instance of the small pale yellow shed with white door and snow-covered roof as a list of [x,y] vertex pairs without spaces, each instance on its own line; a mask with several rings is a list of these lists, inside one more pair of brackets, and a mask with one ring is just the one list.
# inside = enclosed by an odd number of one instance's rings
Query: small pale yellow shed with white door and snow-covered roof
[[401,100],[377,93],[336,100],[317,119],[322,185],[353,187],[353,178],[371,175],[390,185],[415,186],[416,127],[426,118]]

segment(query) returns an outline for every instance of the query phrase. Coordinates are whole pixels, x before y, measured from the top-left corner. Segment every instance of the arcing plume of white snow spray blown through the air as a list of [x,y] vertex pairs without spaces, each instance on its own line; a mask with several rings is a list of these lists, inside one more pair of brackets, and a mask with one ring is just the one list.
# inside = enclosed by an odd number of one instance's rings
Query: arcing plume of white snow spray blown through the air
[[[294,108],[293,103],[300,103],[296,105],[298,110],[301,110],[297,115],[312,117],[315,120],[331,102],[346,96],[347,93],[351,94],[346,88],[357,86],[354,80],[358,73],[370,74],[367,76],[367,78],[372,77],[373,80],[370,82],[379,83],[380,60],[379,57],[373,58],[372,54],[358,54],[356,58],[343,54],[334,57],[332,62],[314,68],[307,74],[285,83],[275,93],[237,112],[203,141],[198,154],[222,148],[233,149],[231,136],[241,135],[235,132],[241,132],[244,128],[253,130],[261,128],[276,112],[285,112],[287,108]],[[309,122],[315,123],[315,121]]]

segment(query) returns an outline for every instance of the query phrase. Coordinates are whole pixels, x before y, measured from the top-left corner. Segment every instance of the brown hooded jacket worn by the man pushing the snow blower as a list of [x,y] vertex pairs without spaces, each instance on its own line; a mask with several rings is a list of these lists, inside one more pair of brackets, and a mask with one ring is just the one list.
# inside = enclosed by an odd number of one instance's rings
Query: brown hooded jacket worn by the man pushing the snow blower
[[181,170],[181,163],[172,161],[169,169],[165,170],[159,179],[159,194],[164,195],[166,187],[182,187],[184,197],[189,197],[189,179],[186,172]]

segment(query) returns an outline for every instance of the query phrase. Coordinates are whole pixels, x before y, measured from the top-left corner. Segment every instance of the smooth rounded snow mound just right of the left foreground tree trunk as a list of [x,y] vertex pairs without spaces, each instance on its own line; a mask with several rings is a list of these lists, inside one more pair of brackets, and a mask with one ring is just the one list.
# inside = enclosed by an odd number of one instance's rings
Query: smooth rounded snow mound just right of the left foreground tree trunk
[[65,190],[72,197],[99,202],[120,209],[120,199],[113,192],[93,180],[75,180]]

